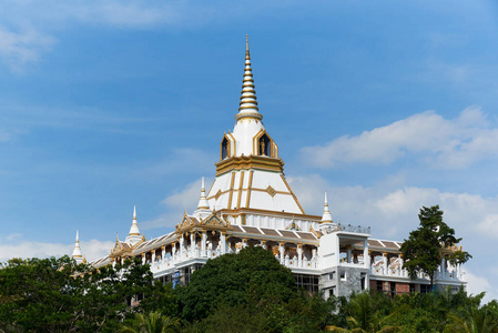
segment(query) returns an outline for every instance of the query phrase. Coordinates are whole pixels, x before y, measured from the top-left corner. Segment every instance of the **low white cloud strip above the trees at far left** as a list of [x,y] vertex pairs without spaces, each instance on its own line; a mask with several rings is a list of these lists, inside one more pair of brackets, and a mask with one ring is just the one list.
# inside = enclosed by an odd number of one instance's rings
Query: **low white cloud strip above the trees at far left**
[[[81,241],[81,250],[87,260],[92,261],[105,256],[111,252],[114,242],[101,242],[98,240]],[[48,258],[71,255],[74,243],[28,242],[21,234],[10,234],[0,240],[0,262],[12,258]]]

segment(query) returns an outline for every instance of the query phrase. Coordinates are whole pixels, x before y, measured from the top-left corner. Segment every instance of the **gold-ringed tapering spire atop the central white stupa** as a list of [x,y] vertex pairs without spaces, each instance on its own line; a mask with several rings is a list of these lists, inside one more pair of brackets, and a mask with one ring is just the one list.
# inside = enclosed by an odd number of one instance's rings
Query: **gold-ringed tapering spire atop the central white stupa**
[[248,50],[248,36],[245,37],[245,69],[244,79],[242,80],[241,102],[236,120],[242,118],[263,119],[263,114],[258,112],[256,101],[256,90],[254,89],[253,70],[251,69],[251,54]]

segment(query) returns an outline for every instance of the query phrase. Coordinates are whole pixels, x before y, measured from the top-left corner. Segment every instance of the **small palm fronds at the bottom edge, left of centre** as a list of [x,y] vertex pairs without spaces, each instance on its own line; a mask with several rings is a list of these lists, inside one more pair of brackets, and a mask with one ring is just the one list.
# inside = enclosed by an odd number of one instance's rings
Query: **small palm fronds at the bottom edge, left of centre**
[[164,316],[155,311],[149,314],[138,313],[131,326],[122,326],[121,333],[173,333],[179,332],[180,320]]

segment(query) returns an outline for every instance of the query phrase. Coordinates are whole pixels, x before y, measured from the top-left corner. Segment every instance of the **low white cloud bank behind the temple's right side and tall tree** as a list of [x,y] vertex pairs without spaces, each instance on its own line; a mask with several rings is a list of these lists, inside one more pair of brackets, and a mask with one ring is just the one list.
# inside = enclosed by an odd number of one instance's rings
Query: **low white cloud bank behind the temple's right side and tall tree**
[[457,238],[463,238],[460,244],[464,250],[474,255],[464,265],[468,291],[474,294],[486,291],[485,302],[498,297],[498,268],[490,268],[496,262],[498,196],[484,198],[415,186],[393,189],[385,183],[369,188],[332,186],[326,179],[313,174],[288,178],[288,181],[306,213],[322,214],[323,192],[327,190],[335,222],[370,226],[373,238],[384,240],[403,241],[408,238],[409,232],[419,225],[419,209],[439,204],[444,221],[455,229]]

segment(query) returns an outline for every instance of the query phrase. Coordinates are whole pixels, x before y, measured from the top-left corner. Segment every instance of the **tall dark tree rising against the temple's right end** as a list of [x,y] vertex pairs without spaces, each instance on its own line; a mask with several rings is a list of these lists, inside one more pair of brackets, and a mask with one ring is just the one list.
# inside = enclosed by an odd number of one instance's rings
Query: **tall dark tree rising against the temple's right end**
[[[434,285],[434,274],[440,264],[441,250],[454,248],[461,239],[455,238],[455,230],[443,222],[443,211],[439,205],[423,206],[418,214],[420,226],[410,232],[404,241],[400,251],[405,258],[403,268],[408,270],[411,279],[420,272],[430,278],[430,287]],[[458,250],[449,254],[454,264],[467,262],[471,255]]]

